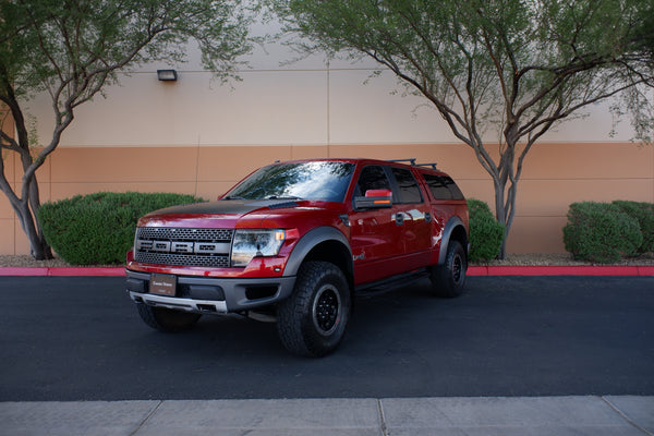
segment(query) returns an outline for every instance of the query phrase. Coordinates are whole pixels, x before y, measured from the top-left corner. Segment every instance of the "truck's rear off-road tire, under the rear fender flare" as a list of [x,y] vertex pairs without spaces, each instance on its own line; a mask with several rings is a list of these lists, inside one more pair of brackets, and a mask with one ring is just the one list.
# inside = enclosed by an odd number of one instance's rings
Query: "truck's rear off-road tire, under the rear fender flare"
[[461,295],[465,284],[468,256],[459,241],[450,241],[445,255],[445,263],[432,267],[429,278],[434,293],[443,298]]

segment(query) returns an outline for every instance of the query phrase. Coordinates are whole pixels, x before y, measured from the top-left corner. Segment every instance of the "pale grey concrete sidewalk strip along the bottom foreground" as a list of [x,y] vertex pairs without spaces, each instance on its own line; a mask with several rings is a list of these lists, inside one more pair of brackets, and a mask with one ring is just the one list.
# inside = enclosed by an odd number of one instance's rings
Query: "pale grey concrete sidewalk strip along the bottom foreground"
[[654,397],[0,402],[0,434],[652,436]]

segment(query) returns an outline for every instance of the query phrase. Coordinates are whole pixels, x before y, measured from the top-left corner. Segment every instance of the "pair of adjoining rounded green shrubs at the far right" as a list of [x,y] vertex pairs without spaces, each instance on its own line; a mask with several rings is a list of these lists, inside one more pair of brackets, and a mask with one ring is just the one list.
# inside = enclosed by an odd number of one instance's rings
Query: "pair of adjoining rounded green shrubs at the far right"
[[654,204],[573,203],[564,227],[566,250],[577,259],[611,263],[654,251]]

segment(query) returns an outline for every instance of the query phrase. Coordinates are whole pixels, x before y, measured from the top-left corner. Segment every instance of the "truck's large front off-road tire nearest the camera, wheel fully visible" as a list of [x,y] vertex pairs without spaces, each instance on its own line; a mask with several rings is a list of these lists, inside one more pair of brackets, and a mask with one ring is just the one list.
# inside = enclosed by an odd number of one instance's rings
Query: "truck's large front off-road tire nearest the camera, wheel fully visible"
[[279,304],[277,331],[293,354],[322,358],[338,348],[350,318],[348,280],[336,265],[305,262],[295,289]]

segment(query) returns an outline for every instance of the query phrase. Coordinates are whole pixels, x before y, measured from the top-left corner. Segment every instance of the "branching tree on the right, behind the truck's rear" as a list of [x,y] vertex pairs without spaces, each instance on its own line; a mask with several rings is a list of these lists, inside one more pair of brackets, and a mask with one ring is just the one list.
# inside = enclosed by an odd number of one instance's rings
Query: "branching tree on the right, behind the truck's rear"
[[615,97],[650,141],[652,0],[268,4],[305,52],[370,57],[424,96],[491,175],[507,235],[524,159],[557,123]]

